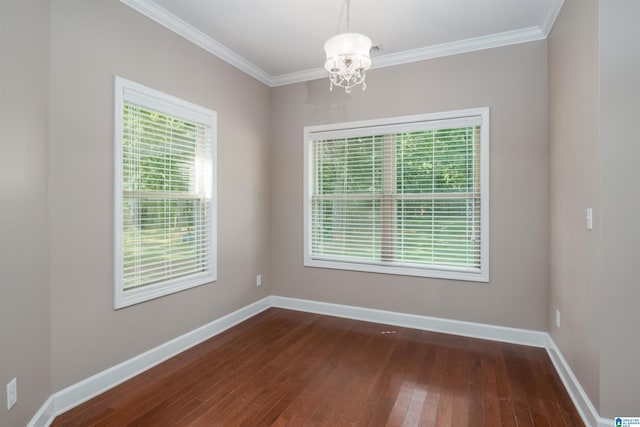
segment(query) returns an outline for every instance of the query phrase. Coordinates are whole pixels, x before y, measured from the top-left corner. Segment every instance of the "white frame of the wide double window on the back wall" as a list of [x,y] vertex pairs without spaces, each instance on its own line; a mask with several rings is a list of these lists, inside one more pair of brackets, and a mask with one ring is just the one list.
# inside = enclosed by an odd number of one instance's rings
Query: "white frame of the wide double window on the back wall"
[[[418,126],[429,127],[429,122],[435,126],[442,123],[464,121],[469,118],[480,120],[480,268],[478,270],[464,270],[457,268],[442,268],[440,266],[407,266],[401,263],[350,262],[350,260],[327,260],[312,256],[312,215],[311,203],[313,195],[313,158],[311,145],[314,140],[331,138],[348,138],[371,135],[371,128],[384,128],[397,132],[410,132]],[[363,128],[368,128],[363,131]],[[381,132],[382,133],[382,132]],[[372,273],[396,274],[406,276],[431,277],[440,279],[454,279],[474,282],[489,282],[489,107],[456,110],[440,113],[419,114],[413,116],[393,117],[376,120],[345,122],[337,124],[306,126],[304,128],[304,266],[338,270],[363,271]],[[384,264],[384,263],[382,263]]]

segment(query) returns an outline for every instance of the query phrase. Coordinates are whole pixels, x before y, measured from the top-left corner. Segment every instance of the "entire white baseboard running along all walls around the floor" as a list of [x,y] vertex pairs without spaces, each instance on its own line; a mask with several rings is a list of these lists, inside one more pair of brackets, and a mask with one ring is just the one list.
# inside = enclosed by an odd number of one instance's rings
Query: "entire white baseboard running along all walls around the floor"
[[584,423],[589,427],[613,427],[614,425],[613,420],[604,419],[598,415],[547,332],[272,295],[54,393],[34,415],[27,427],[48,427],[57,415],[270,307],[545,348]]

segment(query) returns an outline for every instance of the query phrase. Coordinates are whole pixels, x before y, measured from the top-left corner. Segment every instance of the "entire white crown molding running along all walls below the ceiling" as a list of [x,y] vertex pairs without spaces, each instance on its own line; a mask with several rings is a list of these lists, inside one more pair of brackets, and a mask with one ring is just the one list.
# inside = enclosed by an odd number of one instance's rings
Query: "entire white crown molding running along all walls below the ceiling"
[[[327,72],[322,67],[273,76],[244,57],[238,55],[231,49],[207,36],[200,30],[189,25],[182,19],[158,6],[152,0],[120,0],[120,2],[200,46],[209,53],[233,65],[240,71],[245,72],[269,87],[285,86],[288,84],[327,77]],[[547,10],[545,11],[541,26],[375,56],[372,69],[408,64],[411,62],[475,52],[484,49],[492,49],[495,47],[509,46],[518,43],[544,40],[549,35],[563,4],[564,0],[551,0]]]

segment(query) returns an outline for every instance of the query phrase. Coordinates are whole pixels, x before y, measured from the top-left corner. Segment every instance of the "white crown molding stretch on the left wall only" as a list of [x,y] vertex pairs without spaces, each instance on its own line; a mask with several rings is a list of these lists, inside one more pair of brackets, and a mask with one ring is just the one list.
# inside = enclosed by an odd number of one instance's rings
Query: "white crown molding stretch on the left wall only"
[[197,30],[174,14],[158,6],[151,0],[120,0],[120,2],[140,12],[147,18],[156,21],[163,27],[184,37],[195,45],[200,46],[207,52],[233,65],[256,80],[271,86],[273,76],[266,73],[260,67],[257,67],[244,57],[238,55],[228,47],[207,36],[202,31]]

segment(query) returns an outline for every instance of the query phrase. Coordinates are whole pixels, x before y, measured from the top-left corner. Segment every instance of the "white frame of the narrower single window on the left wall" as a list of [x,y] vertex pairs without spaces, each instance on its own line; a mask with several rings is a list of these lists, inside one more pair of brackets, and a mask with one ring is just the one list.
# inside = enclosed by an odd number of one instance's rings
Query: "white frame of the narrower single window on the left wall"
[[[215,111],[119,76],[114,76],[114,88],[114,307],[119,309],[217,280],[217,115]],[[127,102],[179,119],[202,124],[206,127],[207,132],[210,133],[211,142],[210,215],[206,218],[207,226],[212,234],[209,236],[208,269],[196,274],[130,290],[124,289],[123,277],[123,120],[124,105]]]

